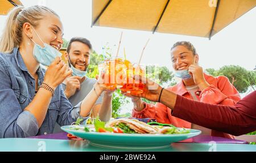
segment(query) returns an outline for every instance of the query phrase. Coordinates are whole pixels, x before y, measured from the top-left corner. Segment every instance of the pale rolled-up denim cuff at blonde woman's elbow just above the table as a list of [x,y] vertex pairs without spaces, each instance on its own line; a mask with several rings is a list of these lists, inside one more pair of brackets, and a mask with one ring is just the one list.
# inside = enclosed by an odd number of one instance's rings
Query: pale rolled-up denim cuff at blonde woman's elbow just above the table
[[29,111],[23,111],[19,114],[16,124],[22,129],[24,137],[35,136],[38,133],[38,122]]

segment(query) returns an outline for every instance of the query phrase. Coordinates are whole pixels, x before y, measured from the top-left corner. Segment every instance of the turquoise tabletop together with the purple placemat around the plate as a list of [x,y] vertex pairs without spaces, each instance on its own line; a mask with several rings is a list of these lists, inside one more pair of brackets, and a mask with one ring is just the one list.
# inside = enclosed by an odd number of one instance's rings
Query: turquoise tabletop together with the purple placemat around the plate
[[246,144],[246,141],[225,139],[222,137],[199,135],[179,143],[172,143],[162,149],[120,149],[102,148],[91,145],[86,140],[68,140],[67,133],[34,136],[30,138],[0,139],[0,151],[47,151],[47,152],[115,152],[115,151],[156,151],[156,152],[208,152],[208,151],[253,151],[256,145]]

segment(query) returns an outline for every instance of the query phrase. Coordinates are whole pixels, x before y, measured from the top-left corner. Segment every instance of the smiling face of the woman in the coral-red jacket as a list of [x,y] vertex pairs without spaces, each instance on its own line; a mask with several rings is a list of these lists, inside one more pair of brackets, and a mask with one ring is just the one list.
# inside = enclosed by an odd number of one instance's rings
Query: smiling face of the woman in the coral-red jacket
[[197,63],[198,55],[194,55],[185,46],[178,45],[171,50],[171,61],[174,70],[187,70],[191,64]]

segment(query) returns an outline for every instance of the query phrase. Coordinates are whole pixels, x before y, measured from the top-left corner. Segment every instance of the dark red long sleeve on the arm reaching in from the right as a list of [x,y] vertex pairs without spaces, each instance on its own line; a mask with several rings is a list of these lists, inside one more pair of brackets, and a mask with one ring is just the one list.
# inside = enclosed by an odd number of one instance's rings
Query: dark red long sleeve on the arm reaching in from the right
[[256,91],[234,106],[212,105],[177,95],[172,115],[236,136],[253,132],[256,131]]

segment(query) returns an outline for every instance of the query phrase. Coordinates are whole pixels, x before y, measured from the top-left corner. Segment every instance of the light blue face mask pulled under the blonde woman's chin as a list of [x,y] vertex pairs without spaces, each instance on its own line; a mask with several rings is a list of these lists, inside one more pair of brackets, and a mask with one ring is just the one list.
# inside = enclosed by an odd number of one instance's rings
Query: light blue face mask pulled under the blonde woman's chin
[[[35,31],[34,28],[33,30]],[[36,35],[38,35],[36,31],[35,33]],[[42,41],[39,35],[38,37]],[[55,60],[56,57],[60,57],[62,55],[59,51],[57,51],[57,49],[51,47],[51,45],[48,45],[43,41],[42,43],[44,44],[44,48],[36,44],[34,40],[32,41],[34,43],[33,56],[35,57],[36,61],[38,61],[40,64],[44,66],[49,66],[52,63],[52,61]]]

